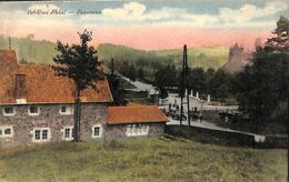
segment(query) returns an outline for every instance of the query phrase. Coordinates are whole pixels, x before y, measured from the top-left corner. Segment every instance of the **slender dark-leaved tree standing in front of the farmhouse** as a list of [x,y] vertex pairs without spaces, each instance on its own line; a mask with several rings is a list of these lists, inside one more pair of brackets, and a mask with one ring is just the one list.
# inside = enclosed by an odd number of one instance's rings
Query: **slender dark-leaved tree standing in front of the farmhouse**
[[74,98],[74,133],[73,140],[80,140],[80,115],[81,115],[81,91],[91,87],[96,88],[99,80],[104,79],[103,72],[100,71],[97,50],[89,47],[89,41],[92,40],[92,32],[84,30],[83,33],[78,33],[80,44],[63,44],[57,42],[57,54],[53,61],[57,65],[51,65],[58,77],[67,77],[72,79],[76,85]]

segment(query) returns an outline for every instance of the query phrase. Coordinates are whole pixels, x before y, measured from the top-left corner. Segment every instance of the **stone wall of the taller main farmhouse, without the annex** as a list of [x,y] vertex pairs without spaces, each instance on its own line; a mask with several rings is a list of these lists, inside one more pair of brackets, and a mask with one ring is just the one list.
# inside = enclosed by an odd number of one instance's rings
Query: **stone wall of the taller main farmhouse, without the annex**
[[[51,140],[62,141],[63,127],[73,125],[73,114],[61,115],[59,113],[60,104],[39,104],[40,114],[31,117],[28,114],[30,105],[13,105],[16,115],[4,117],[0,107],[0,127],[13,127],[12,138],[0,138],[0,148],[17,146],[32,143],[31,131],[34,128],[50,128]],[[73,108],[73,105],[71,104]],[[81,140],[89,141],[91,139],[91,128],[94,124],[107,124],[107,105],[83,103],[81,107]]]

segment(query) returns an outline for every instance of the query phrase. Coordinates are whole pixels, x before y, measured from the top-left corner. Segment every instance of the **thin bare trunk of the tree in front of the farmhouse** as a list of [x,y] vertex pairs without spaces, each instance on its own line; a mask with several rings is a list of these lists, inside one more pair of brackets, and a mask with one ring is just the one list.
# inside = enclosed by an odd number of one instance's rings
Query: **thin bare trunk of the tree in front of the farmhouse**
[[81,103],[80,103],[80,90],[77,88],[77,94],[74,99],[74,129],[73,129],[73,141],[80,141],[80,114]]

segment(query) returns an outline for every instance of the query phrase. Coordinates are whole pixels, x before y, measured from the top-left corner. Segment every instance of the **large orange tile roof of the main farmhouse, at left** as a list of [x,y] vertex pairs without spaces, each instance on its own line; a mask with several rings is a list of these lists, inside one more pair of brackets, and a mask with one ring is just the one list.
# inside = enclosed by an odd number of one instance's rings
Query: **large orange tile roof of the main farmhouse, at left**
[[[12,57],[12,55],[13,57]],[[7,59],[8,58],[8,59]],[[74,83],[64,77],[54,75],[49,65],[18,65],[16,52],[0,50],[0,104],[16,103],[16,74],[26,74],[28,103],[73,103]],[[97,83],[97,90],[86,89],[82,102],[112,102],[107,80]]]

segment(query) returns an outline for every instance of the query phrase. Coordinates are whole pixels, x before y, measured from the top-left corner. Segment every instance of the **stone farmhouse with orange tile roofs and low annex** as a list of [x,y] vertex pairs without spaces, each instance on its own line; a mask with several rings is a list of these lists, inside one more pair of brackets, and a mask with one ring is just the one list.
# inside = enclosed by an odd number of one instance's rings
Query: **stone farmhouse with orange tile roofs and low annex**
[[[157,107],[109,107],[107,80],[81,93],[80,140],[158,136],[167,118]],[[71,141],[74,83],[42,64],[18,64],[0,50],[0,148]]]

